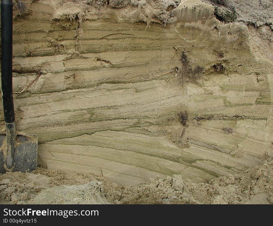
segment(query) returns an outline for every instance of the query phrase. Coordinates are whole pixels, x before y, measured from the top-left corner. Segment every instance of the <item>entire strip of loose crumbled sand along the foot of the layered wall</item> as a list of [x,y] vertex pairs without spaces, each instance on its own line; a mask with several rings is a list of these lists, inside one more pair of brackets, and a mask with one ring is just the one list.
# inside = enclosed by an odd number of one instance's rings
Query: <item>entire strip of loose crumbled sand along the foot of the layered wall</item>
[[273,204],[273,161],[209,183],[181,176],[150,179],[138,186],[117,185],[91,174],[38,168],[0,176],[1,204]]

